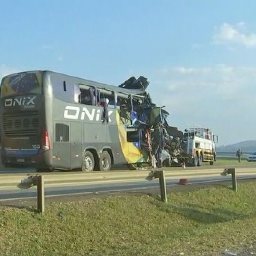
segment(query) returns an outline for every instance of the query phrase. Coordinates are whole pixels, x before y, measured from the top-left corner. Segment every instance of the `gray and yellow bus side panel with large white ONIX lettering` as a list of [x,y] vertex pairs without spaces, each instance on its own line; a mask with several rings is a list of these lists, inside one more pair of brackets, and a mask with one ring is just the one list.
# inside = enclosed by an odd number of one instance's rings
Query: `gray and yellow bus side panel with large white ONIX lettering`
[[[102,123],[103,107],[79,104],[74,100],[74,85],[79,84],[79,79],[67,77],[59,74],[51,74],[54,94],[53,119],[55,122],[70,122],[70,155],[64,150],[58,150],[57,155],[61,157],[71,157],[70,168],[80,168],[82,165],[83,152],[86,149],[94,149],[98,155],[103,149],[109,148],[113,153],[114,164],[136,163],[140,161],[140,150],[135,143],[127,142],[125,125],[120,124],[119,110],[108,108],[109,123]],[[65,81],[65,86],[63,82]],[[82,131],[74,131],[72,123],[80,123]],[[51,125],[52,132],[54,125]],[[80,137],[81,152],[77,154],[76,150],[80,148],[77,140]],[[55,143],[55,134],[52,133],[52,141]],[[73,143],[76,143],[76,149],[72,149]],[[53,146],[54,149],[54,146]],[[73,155],[76,155],[74,158]],[[55,152],[53,152],[55,157]],[[98,160],[98,159],[96,159]],[[77,166],[76,165],[80,165]],[[68,168],[68,167],[66,167]]]

